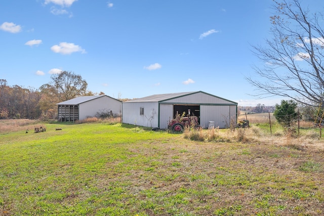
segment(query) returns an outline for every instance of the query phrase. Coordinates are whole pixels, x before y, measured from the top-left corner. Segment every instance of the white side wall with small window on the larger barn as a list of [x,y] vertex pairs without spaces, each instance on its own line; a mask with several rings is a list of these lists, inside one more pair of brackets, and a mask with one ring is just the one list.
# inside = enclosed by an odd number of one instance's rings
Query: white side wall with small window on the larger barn
[[[144,115],[140,115],[140,107],[144,107]],[[124,103],[123,123],[157,127],[158,102]]]

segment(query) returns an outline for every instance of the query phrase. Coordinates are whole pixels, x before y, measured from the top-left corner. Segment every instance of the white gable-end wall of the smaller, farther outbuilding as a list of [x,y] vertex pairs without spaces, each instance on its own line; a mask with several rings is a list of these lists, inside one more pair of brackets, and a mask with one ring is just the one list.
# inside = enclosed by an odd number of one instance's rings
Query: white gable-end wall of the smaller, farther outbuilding
[[79,105],[79,119],[93,117],[97,112],[110,112],[119,115],[121,112],[121,102],[107,96],[87,101]]

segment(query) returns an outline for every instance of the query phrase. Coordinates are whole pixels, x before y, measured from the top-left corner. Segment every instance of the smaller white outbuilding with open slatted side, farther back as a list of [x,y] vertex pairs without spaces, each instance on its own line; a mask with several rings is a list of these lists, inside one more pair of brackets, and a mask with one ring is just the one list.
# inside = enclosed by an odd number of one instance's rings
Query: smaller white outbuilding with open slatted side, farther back
[[107,95],[82,96],[58,103],[58,121],[83,120],[97,114],[120,116],[122,102]]

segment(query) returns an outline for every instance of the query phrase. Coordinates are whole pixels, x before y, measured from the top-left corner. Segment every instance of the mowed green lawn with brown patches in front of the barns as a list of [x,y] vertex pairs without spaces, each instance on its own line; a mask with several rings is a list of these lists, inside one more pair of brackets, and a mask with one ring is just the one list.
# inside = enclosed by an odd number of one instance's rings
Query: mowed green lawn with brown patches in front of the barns
[[0,215],[324,214],[322,150],[45,126],[0,134]]

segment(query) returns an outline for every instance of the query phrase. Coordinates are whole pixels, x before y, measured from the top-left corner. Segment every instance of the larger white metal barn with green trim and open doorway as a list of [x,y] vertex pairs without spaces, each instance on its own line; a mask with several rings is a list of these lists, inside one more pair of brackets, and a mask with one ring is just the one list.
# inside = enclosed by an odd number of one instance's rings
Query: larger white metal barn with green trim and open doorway
[[237,103],[205,92],[152,95],[123,102],[123,123],[166,129],[177,113],[197,116],[207,128],[229,127],[237,120]]

